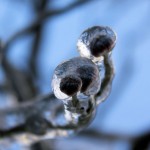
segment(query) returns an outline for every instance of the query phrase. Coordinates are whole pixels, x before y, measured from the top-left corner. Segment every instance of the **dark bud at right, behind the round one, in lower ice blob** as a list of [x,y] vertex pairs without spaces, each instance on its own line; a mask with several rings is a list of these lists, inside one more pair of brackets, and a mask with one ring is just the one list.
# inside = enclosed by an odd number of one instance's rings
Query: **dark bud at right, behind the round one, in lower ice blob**
[[81,92],[85,92],[96,79],[98,71],[92,66],[82,66],[77,69],[77,72],[82,80]]

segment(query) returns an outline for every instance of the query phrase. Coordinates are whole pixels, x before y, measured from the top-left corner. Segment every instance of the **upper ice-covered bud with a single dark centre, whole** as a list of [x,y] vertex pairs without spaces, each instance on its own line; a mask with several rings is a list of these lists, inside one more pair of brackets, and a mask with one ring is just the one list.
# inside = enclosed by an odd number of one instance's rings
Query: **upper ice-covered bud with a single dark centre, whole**
[[85,30],[79,37],[77,47],[82,57],[100,61],[116,44],[116,33],[105,26],[94,26]]

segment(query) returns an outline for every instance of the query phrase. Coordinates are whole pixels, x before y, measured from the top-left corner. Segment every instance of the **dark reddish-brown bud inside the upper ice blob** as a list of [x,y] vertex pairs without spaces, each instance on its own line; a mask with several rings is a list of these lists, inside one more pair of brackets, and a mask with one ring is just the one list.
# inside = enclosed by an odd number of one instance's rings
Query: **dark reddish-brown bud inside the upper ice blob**
[[112,49],[113,42],[108,36],[99,36],[90,43],[92,55],[99,57],[103,52],[109,52]]

